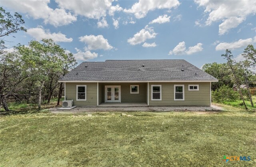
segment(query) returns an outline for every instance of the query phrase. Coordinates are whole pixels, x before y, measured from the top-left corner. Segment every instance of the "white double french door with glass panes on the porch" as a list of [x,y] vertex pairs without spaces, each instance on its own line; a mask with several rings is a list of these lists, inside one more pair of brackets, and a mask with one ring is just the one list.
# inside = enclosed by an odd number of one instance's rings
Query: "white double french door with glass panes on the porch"
[[105,86],[105,102],[121,102],[121,86]]

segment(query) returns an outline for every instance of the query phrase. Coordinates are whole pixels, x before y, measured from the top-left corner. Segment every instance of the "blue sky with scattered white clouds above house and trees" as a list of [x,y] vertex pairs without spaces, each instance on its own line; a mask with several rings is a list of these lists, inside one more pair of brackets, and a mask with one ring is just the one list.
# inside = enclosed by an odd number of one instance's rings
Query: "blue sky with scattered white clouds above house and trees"
[[[200,68],[225,62],[230,49],[242,60],[256,43],[256,1],[1,0],[18,12],[27,32],[5,40],[8,48],[52,38],[84,61],[184,59]],[[254,45],[255,46],[255,45]]]

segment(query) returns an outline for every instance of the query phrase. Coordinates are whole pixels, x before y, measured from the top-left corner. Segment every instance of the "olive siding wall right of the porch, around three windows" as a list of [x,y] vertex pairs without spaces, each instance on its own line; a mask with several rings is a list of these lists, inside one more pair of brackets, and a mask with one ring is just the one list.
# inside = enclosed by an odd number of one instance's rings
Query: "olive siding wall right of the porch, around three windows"
[[[151,100],[151,85],[162,85],[162,100]],[[174,101],[174,85],[184,85],[184,101]],[[199,85],[199,91],[189,91],[188,85]],[[149,105],[177,106],[195,105],[210,106],[210,82],[178,82],[178,83],[149,83]]]

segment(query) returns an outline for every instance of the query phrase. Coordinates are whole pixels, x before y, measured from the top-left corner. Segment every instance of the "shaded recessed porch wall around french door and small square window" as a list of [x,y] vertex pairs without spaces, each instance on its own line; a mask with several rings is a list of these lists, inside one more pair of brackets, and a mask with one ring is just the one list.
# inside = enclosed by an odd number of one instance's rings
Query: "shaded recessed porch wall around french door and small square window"
[[[121,86],[121,103],[146,103],[148,96],[147,84],[148,83],[101,83],[102,103],[105,102],[105,85]],[[130,85],[139,85],[139,93],[130,93]]]

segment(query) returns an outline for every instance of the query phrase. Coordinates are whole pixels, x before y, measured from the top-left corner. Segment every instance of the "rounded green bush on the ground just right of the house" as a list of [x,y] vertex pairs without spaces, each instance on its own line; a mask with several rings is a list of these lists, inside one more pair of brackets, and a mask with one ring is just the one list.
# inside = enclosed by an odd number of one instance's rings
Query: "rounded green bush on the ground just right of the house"
[[222,85],[220,88],[212,91],[212,101],[224,102],[235,101],[237,99],[239,99],[239,93],[227,85]]

